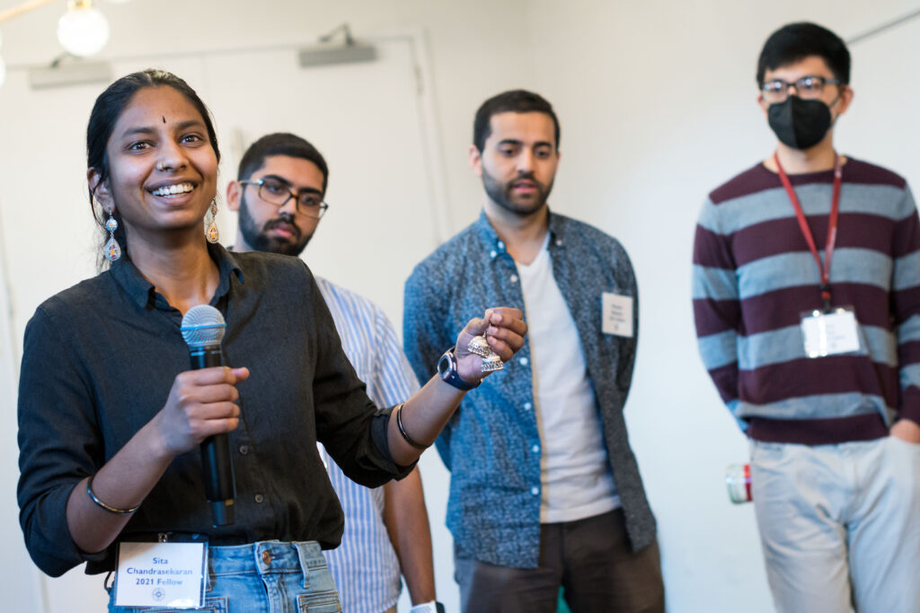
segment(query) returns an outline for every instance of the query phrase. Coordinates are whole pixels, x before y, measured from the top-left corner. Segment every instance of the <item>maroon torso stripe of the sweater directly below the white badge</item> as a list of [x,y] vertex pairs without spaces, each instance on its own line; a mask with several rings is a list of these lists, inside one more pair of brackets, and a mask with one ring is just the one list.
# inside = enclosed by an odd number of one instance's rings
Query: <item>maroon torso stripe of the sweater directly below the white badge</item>
[[738,392],[754,404],[779,403],[827,393],[879,395],[898,405],[898,369],[865,357],[800,358],[738,373]]

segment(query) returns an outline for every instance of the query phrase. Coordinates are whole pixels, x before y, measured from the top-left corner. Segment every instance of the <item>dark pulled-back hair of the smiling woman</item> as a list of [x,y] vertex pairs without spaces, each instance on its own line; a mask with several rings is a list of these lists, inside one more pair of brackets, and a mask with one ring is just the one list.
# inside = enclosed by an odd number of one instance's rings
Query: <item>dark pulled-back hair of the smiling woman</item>
[[[94,168],[98,172],[97,186],[109,179],[109,155],[107,150],[109,138],[111,138],[112,131],[115,129],[115,124],[124,109],[131,103],[134,95],[147,87],[172,87],[179,94],[185,96],[191,106],[201,114],[201,119],[204,120],[204,126],[208,131],[211,148],[214,150],[217,161],[220,162],[221,151],[217,146],[217,134],[214,132],[211,113],[201,102],[201,98],[198,97],[195,90],[175,74],[148,68],[140,73],[122,76],[121,79],[109,85],[96,98],[93,111],[89,114],[89,124],[86,126],[86,166]],[[99,243],[98,250],[98,253],[101,254],[102,246],[109,241],[109,232],[106,230],[106,212],[95,205],[94,192],[95,189],[89,187],[89,206],[93,211],[93,218],[102,231],[102,240]],[[125,253],[127,248],[126,235],[124,233],[124,224],[121,222],[121,213],[117,208],[113,211],[113,216],[115,221],[118,221],[115,240],[119,242],[122,253]],[[106,260],[100,255],[98,266],[101,269],[105,265]]]

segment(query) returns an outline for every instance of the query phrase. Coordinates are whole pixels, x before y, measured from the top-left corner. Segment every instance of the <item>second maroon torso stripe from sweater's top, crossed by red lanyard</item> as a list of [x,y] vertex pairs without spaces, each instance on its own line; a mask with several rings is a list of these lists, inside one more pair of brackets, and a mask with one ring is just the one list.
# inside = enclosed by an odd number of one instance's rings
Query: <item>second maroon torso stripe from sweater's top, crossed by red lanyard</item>
[[[830,200],[827,208],[831,208]],[[792,211],[792,205],[789,205],[789,211]],[[827,244],[828,215],[811,215],[807,220],[814,243],[821,251]],[[871,249],[883,255],[891,255],[894,227],[893,221],[879,215],[843,213],[837,226],[836,248]],[[731,235],[730,243],[731,253],[740,267],[770,255],[790,251],[809,252],[808,243],[805,242],[795,216],[742,228]]]

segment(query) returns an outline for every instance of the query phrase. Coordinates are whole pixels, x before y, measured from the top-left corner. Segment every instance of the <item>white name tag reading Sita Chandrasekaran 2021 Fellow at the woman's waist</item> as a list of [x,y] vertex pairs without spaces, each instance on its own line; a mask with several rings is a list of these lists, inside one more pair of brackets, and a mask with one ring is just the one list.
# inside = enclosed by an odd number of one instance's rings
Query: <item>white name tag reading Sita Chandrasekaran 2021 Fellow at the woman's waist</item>
[[204,543],[119,543],[117,607],[201,607]]

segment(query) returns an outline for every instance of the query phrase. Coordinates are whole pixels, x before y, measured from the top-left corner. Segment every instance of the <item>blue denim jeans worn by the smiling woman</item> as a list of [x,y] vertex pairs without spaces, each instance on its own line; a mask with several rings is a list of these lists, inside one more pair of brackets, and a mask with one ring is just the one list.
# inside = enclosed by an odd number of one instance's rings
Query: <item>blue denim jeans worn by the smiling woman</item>
[[[118,577],[115,578],[116,585]],[[208,578],[201,608],[116,607],[109,613],[340,613],[326,559],[316,541],[265,540],[208,550]]]

